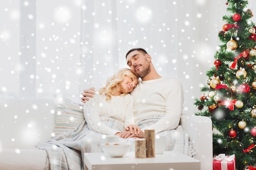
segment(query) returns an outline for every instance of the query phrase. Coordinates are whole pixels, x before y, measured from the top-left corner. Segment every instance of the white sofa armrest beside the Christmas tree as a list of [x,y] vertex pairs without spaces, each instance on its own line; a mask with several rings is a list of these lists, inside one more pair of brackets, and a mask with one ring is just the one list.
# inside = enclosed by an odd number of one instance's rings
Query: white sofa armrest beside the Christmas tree
[[207,116],[195,116],[182,114],[180,125],[185,133],[189,135],[196,150],[196,159],[201,162],[201,170],[213,169],[213,141],[212,141],[212,122]]

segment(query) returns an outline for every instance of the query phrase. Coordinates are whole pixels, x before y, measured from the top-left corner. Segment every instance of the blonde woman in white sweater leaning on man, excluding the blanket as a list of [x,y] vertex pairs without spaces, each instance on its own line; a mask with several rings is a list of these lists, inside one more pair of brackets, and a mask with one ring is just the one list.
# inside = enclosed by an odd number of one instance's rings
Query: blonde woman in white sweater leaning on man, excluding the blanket
[[83,107],[85,120],[94,132],[106,135],[120,135],[123,129],[112,129],[101,119],[106,117],[120,121],[123,127],[129,126],[131,133],[140,133],[139,126],[135,125],[133,114],[133,98],[130,92],[138,84],[138,77],[128,68],[120,69],[110,76],[106,85],[96,91],[96,94]]

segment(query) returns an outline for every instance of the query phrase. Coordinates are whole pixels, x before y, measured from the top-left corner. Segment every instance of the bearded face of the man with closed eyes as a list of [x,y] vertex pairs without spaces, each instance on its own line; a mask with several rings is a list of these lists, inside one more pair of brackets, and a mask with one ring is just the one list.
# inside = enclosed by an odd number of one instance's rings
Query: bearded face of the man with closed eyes
[[147,55],[148,54],[135,50],[130,52],[126,58],[127,65],[132,72],[140,78],[144,78],[151,70]]

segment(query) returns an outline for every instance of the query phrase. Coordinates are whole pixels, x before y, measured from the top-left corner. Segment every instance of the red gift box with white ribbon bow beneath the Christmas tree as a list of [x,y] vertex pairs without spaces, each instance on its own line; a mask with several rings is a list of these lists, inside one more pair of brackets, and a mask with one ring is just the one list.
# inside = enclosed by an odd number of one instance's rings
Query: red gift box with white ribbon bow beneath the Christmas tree
[[213,170],[236,170],[235,155],[220,154],[213,159]]

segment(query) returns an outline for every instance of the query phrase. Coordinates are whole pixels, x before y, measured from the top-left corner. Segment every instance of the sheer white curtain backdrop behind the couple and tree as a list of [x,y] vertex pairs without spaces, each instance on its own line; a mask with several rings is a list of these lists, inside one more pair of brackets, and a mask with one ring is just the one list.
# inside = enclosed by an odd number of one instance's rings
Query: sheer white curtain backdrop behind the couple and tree
[[[256,2],[249,0],[256,14]],[[144,48],[162,76],[180,79],[184,113],[197,108],[220,42],[223,0],[0,1],[0,97],[80,101],[99,88],[125,55]],[[253,22],[256,19],[252,18]]]

